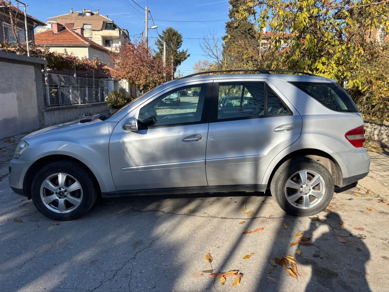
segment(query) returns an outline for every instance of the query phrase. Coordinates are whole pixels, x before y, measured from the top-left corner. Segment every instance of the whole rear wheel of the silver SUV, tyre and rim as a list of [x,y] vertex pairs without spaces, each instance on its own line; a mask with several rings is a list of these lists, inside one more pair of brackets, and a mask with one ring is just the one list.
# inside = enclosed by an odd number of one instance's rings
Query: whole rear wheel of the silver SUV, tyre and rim
[[312,216],[330,203],[334,181],[324,165],[304,157],[293,158],[277,169],[270,191],[288,214]]

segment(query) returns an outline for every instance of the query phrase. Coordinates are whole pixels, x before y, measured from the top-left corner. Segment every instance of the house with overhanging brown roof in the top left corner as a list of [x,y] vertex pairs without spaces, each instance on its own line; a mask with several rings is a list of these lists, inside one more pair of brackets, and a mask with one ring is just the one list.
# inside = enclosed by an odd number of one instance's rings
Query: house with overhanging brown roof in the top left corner
[[[8,6],[9,3],[0,0],[0,42],[12,42],[16,44],[16,37],[20,43],[25,41],[25,24],[24,12],[15,6]],[[13,16],[13,21],[18,27],[17,36],[14,35],[11,29],[10,10]],[[28,40],[34,43],[34,29],[37,26],[45,25],[43,21],[27,14],[27,36]]]

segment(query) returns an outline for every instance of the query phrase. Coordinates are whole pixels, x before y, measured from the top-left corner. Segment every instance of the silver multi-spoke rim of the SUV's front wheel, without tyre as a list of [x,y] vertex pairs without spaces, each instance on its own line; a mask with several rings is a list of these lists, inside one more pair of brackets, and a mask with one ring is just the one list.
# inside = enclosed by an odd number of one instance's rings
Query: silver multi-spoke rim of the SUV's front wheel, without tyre
[[67,173],[54,173],[40,186],[40,199],[56,213],[69,213],[82,201],[81,184]]

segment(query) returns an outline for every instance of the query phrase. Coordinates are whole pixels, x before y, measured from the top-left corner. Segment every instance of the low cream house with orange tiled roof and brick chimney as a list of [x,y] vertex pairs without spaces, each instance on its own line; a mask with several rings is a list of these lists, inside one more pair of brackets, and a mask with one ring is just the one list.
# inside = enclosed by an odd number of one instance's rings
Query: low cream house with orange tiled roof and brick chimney
[[47,47],[50,52],[67,52],[80,59],[87,57],[93,60],[98,57],[100,61],[109,66],[111,51],[85,37],[82,27],[74,31],[68,25],[52,23],[53,29],[35,34],[35,43]]

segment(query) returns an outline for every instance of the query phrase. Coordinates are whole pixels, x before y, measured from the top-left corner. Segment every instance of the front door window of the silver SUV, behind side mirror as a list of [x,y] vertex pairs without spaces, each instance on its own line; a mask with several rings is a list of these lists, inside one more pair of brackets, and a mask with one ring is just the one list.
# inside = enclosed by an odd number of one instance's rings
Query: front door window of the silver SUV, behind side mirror
[[181,87],[169,91],[139,111],[139,124],[165,126],[200,122],[206,85]]

